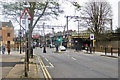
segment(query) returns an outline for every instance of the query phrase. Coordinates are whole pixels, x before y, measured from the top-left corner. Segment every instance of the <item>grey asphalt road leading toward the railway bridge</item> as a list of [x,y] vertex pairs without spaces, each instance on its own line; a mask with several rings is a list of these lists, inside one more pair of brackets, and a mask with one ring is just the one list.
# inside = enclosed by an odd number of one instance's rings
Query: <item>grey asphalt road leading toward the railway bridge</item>
[[67,50],[55,53],[55,49],[34,49],[41,57],[52,78],[118,78],[118,59]]

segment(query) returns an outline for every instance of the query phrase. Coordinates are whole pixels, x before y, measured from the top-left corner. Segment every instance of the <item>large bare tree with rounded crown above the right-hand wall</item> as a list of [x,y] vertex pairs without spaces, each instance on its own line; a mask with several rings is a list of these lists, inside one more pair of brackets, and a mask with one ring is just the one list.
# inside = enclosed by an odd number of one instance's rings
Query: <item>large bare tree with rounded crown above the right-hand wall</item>
[[111,6],[108,2],[87,2],[82,9],[84,25],[95,34],[96,40],[104,32],[112,18]]

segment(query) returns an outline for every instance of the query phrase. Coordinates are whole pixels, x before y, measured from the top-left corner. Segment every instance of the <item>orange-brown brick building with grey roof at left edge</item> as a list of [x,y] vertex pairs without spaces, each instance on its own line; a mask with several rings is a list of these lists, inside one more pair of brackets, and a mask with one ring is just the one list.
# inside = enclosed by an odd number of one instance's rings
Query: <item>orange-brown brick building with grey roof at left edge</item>
[[2,44],[7,45],[7,43],[14,44],[14,27],[12,22],[0,22],[0,41]]

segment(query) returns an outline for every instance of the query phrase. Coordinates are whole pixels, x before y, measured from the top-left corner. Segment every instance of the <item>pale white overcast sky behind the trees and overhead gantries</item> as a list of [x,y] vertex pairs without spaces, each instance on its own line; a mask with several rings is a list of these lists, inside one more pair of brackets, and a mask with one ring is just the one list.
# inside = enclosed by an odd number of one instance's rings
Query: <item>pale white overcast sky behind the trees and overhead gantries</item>
[[[1,1],[1,0],[0,0]],[[6,1],[10,1],[10,0],[6,0]],[[79,14],[77,14],[77,12],[75,12],[75,8],[70,4],[69,1],[77,1],[81,6],[84,6],[85,2],[89,2],[90,0],[60,0],[60,4],[62,9],[64,10],[63,14],[60,14],[60,16],[58,17],[58,20],[56,19],[52,19],[50,21],[44,21],[46,25],[60,25],[60,26],[65,26],[66,24],[66,18],[65,16],[78,16]],[[99,1],[99,0],[97,0]],[[101,0],[100,0],[101,1]],[[116,26],[118,26],[118,1],[120,0],[107,0],[111,7],[112,7],[112,11],[113,11],[113,30],[116,29]],[[1,7],[1,6],[0,6]],[[1,11],[0,11],[1,13]],[[9,19],[6,19],[7,17],[0,15],[0,21],[9,21]],[[72,30],[77,30],[77,22],[74,22],[74,19],[71,19],[68,22],[68,29],[72,29]],[[43,23],[43,22],[42,22]],[[42,23],[38,23],[38,24],[42,24]],[[19,29],[19,24],[17,22],[14,22],[14,26],[15,29]],[[84,28],[80,29],[83,30]],[[52,30],[46,30],[46,32],[51,32]],[[63,31],[63,29],[55,29],[55,32],[57,31]]]

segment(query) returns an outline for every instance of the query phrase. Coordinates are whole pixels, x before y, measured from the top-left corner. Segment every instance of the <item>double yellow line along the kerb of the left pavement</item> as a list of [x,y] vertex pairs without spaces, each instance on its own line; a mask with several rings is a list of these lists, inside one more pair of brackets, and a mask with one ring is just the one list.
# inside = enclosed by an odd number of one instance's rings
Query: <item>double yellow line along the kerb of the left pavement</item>
[[44,74],[45,79],[46,79],[46,80],[52,80],[52,77],[50,76],[50,74],[49,74],[48,70],[46,69],[46,67],[45,67],[42,59],[40,58],[40,56],[38,56],[38,60],[39,60],[39,62],[40,62],[40,66],[41,66],[41,68],[42,68],[42,71],[43,71],[43,74]]

